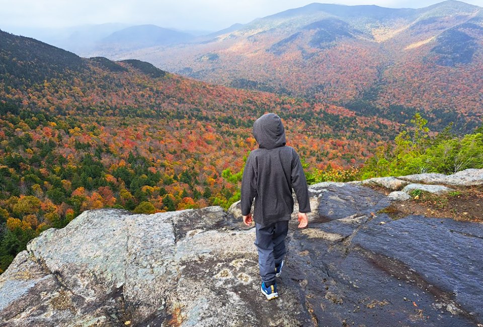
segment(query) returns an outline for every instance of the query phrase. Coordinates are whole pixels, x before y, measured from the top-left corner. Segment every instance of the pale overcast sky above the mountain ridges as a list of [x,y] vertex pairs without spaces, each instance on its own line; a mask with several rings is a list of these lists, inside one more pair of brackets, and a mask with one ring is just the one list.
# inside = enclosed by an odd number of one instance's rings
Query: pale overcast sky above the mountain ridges
[[[0,29],[84,24],[155,24],[183,30],[220,30],[233,23],[302,7],[314,0],[0,0]],[[333,1],[318,1],[334,3]],[[438,0],[338,0],[344,5],[421,8]],[[483,7],[483,0],[466,0]],[[9,31],[10,32],[10,31]]]

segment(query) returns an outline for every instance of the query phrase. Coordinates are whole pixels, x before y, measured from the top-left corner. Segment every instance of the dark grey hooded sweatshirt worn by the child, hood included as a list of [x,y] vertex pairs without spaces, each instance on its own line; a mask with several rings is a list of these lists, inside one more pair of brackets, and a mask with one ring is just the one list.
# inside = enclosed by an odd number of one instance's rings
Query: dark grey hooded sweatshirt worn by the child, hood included
[[253,124],[259,148],[247,158],[241,180],[241,214],[248,215],[255,198],[253,219],[265,226],[289,220],[293,212],[292,188],[299,212],[310,212],[307,182],[294,148],[285,145],[279,116],[265,114]]

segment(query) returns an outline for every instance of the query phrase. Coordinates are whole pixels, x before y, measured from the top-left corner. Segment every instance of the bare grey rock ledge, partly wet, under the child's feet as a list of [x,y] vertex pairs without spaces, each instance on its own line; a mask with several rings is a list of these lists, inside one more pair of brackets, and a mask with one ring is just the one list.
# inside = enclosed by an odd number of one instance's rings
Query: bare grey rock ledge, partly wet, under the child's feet
[[[478,185],[481,171],[382,183]],[[237,204],[101,209],[17,256],[0,276],[0,325],[483,326],[483,224],[393,220],[381,212],[397,197],[365,185],[309,187],[309,228],[290,223],[277,300],[260,293],[255,232]]]

